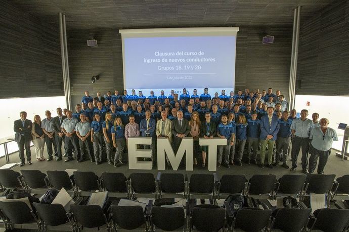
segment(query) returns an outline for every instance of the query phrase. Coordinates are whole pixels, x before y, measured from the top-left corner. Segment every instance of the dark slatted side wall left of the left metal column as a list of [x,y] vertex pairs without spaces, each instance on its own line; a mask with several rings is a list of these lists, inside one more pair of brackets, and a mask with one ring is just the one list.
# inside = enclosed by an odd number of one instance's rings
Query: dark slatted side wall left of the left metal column
[[58,26],[0,5],[0,98],[64,95]]

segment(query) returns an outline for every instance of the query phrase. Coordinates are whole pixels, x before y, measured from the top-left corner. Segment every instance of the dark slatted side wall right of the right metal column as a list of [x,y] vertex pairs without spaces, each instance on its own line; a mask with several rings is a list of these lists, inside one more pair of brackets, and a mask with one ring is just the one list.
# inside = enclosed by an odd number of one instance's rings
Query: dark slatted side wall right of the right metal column
[[349,1],[301,24],[296,94],[349,95]]

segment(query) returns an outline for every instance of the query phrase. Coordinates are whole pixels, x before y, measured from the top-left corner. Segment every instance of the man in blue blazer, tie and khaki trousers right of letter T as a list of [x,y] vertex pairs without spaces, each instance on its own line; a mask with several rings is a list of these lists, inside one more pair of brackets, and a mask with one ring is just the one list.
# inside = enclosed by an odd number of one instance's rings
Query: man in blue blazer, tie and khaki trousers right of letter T
[[273,115],[274,108],[267,108],[267,115],[261,117],[260,121],[260,167],[264,167],[266,150],[268,145],[268,167],[274,168],[272,165],[273,147],[275,145],[276,136],[280,129],[279,118]]

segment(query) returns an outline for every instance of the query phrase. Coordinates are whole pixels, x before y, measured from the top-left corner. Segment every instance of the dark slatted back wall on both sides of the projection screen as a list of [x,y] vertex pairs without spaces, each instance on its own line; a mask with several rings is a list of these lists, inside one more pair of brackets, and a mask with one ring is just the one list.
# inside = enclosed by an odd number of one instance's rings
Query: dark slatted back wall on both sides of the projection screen
[[[262,44],[265,35],[274,35],[275,43]],[[86,39],[98,40],[88,47]],[[237,36],[235,89],[281,90],[288,94],[292,27],[242,27]],[[68,56],[72,102],[80,102],[85,90],[123,90],[121,36],[117,29],[74,30],[68,32]],[[137,68],[137,67],[136,67]],[[100,80],[91,83],[91,77]],[[185,86],[183,86],[185,87]],[[148,95],[148,93],[146,93]]]

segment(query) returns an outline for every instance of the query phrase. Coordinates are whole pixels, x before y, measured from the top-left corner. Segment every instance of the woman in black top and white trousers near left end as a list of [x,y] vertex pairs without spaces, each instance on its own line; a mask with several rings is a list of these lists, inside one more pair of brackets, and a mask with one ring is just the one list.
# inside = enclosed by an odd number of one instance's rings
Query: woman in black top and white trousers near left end
[[41,129],[41,119],[39,115],[34,116],[33,127],[31,129],[31,140],[34,144],[36,160],[45,160],[43,157],[43,148],[45,147],[45,133]]

